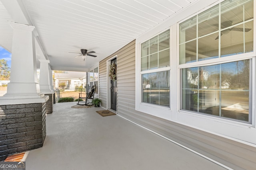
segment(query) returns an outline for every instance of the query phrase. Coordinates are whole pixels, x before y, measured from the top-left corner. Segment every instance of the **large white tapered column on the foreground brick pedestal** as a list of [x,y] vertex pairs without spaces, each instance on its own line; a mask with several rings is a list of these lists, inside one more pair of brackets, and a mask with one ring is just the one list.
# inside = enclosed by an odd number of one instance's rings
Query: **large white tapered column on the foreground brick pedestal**
[[0,105],[44,103],[48,96],[40,92],[36,75],[34,26],[11,22],[12,64],[7,93],[0,97]]

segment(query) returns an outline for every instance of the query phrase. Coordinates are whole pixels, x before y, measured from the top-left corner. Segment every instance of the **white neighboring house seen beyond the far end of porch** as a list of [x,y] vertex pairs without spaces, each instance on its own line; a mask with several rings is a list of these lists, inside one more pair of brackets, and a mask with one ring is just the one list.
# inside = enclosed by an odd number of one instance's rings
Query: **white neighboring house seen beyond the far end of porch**
[[86,86],[86,72],[67,71],[54,74],[55,88],[74,90],[76,87]]

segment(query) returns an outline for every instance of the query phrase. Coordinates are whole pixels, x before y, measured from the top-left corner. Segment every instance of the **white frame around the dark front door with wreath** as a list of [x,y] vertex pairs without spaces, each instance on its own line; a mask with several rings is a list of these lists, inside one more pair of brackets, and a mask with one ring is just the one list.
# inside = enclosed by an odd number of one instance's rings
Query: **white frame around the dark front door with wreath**
[[[110,70],[110,62],[111,60],[115,59],[116,58],[116,63],[117,63],[117,55],[115,55],[114,57],[111,57],[110,59],[108,59],[106,61],[106,64],[107,64],[107,76],[106,76],[106,79],[107,79],[107,108],[106,109],[111,109],[111,91],[110,91],[110,83],[111,83],[111,80],[110,80],[110,77],[108,76],[108,73],[109,73],[109,70]],[[117,66],[117,64],[116,64]],[[116,88],[117,88],[117,69],[116,69]],[[117,90],[116,90],[116,105],[117,105]],[[116,107],[116,110],[117,110],[117,107]]]

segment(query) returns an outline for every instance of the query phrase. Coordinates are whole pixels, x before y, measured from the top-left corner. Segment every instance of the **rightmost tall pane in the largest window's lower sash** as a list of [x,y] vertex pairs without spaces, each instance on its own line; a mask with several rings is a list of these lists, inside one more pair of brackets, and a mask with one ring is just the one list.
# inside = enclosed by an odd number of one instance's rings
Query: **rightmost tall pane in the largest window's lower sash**
[[221,74],[222,117],[248,121],[250,60],[222,64]]

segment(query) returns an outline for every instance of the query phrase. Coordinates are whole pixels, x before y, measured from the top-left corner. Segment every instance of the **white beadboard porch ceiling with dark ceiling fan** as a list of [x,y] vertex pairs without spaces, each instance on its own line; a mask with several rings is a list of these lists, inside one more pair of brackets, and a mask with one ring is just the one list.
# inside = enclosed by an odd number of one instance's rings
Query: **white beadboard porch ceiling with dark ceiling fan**
[[[1,3],[2,1],[2,3]],[[38,33],[37,58],[53,70],[88,71],[136,37],[198,0],[0,0],[0,45],[12,51],[15,12]],[[9,4],[9,5],[8,5]],[[19,22],[20,23],[20,22]],[[24,23],[24,24],[27,24]],[[74,53],[95,51],[83,61]],[[40,51],[41,50],[41,51]],[[39,66],[39,64],[38,64]]]

